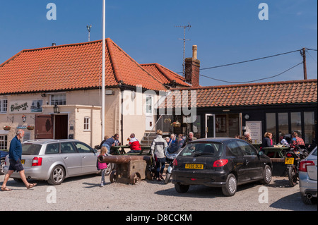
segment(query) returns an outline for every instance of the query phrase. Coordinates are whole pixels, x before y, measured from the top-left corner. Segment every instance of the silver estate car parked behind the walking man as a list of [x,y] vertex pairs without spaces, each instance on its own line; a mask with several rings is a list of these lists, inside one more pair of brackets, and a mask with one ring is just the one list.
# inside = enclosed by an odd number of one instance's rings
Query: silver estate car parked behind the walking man
[[[97,174],[96,150],[78,140],[30,140],[22,143],[22,159],[25,176],[59,185],[64,178]],[[5,171],[9,160],[6,157]],[[20,175],[11,176],[16,181]]]

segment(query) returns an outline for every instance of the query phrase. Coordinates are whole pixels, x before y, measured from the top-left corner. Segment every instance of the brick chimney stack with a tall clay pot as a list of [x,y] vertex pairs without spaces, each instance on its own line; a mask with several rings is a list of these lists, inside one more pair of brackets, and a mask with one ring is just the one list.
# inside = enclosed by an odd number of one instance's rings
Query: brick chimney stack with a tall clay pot
[[198,47],[192,46],[192,58],[184,60],[185,69],[184,76],[185,82],[190,83],[192,87],[199,87],[199,75],[200,75],[200,61],[196,59],[198,56]]

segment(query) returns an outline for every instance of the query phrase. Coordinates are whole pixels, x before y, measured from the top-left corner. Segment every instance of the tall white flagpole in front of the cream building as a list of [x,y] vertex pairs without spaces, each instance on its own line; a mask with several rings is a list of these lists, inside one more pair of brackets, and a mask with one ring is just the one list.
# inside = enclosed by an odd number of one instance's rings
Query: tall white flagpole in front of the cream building
[[102,140],[105,136],[105,0],[102,0]]

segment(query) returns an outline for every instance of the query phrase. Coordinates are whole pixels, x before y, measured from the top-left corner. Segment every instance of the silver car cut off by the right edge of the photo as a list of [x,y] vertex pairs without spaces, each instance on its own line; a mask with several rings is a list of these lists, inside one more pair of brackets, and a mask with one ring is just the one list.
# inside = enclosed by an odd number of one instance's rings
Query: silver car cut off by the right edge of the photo
[[317,202],[317,147],[300,161],[299,187],[302,202],[307,205]]

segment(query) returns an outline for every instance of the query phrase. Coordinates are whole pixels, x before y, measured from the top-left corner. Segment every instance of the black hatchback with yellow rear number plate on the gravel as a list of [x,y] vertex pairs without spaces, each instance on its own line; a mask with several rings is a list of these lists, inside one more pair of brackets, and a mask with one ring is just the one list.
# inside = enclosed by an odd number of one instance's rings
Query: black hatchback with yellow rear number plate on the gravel
[[184,147],[175,159],[172,183],[178,193],[191,185],[222,188],[235,195],[237,185],[252,181],[271,182],[271,159],[248,142],[236,138],[198,139]]

